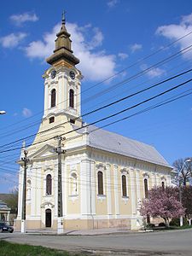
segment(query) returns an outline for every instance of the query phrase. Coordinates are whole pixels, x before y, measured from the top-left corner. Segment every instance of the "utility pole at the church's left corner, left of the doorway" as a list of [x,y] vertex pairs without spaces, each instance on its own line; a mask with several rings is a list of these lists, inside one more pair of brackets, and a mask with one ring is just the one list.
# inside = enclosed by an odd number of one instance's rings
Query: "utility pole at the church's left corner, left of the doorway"
[[22,216],[21,216],[21,233],[26,232],[26,168],[29,159],[27,158],[28,152],[24,150],[24,157],[21,160],[24,162],[23,169],[23,196],[22,196]]

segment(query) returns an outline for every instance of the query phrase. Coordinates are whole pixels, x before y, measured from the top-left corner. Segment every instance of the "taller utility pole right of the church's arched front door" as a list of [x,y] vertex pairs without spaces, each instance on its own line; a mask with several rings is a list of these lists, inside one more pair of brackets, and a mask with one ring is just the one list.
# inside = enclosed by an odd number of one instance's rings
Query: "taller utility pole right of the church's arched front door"
[[65,150],[61,149],[61,141],[65,139],[65,137],[57,136],[55,139],[58,141],[57,148],[55,148],[55,152],[58,154],[58,199],[57,199],[57,233],[61,234],[63,232],[63,223],[62,223],[62,176],[61,176],[61,154],[65,153]]

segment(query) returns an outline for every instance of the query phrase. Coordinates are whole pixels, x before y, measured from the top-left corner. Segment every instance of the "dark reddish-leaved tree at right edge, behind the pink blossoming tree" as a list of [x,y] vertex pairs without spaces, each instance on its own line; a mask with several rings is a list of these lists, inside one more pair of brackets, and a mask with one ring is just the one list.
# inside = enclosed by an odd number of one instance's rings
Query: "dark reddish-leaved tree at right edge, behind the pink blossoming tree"
[[182,188],[182,203],[188,218],[192,216],[192,186]]

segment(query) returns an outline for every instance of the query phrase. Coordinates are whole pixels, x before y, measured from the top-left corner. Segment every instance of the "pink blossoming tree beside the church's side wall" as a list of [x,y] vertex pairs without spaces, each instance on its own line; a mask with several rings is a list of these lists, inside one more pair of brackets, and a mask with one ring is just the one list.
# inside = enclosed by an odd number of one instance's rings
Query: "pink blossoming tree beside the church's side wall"
[[166,226],[169,226],[170,218],[178,218],[184,214],[184,208],[178,201],[178,189],[159,187],[148,191],[148,199],[143,200],[140,209],[142,216],[164,218]]

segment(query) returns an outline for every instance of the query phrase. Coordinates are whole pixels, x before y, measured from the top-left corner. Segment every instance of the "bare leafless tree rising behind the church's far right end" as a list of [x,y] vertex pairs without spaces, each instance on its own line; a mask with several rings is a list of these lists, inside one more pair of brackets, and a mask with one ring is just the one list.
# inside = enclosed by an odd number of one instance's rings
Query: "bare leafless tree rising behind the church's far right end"
[[187,157],[185,159],[180,158],[178,160],[175,160],[172,164],[175,167],[177,174],[181,174],[183,186],[186,186],[186,183],[192,177],[192,161],[186,161],[189,159],[191,159],[191,157]]

